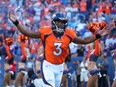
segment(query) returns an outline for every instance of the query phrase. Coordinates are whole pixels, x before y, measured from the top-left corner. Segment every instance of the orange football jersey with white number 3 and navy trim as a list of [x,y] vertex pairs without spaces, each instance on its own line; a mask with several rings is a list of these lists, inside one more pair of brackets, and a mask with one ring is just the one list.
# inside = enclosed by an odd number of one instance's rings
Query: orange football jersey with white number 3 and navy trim
[[67,28],[64,34],[57,35],[51,27],[39,29],[44,46],[44,58],[53,64],[61,64],[69,53],[69,44],[76,37],[74,29]]

